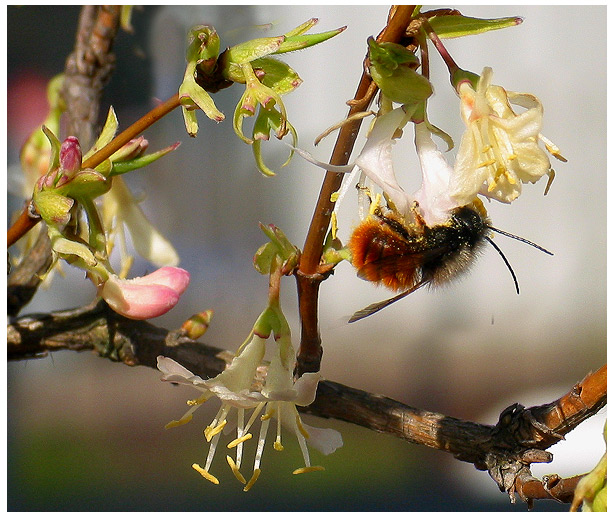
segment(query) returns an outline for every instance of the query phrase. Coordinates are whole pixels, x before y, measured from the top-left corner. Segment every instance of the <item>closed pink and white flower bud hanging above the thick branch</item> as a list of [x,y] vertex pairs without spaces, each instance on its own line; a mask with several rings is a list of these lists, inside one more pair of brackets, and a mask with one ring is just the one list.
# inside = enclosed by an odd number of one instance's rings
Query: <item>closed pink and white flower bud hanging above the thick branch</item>
[[146,320],[172,309],[189,282],[187,271],[165,266],[135,279],[111,275],[103,284],[100,295],[116,313],[134,320]]

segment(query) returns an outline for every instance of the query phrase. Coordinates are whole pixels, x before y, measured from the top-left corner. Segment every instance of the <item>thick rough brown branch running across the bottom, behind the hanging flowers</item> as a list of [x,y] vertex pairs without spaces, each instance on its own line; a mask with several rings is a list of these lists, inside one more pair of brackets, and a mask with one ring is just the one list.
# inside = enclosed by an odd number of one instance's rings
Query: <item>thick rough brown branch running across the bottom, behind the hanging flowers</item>
[[[128,365],[156,367],[156,357],[174,358],[200,376],[215,376],[229,353],[191,341],[145,321],[121,317],[104,302],[86,308],[21,317],[8,326],[8,359],[19,360],[70,349],[94,349],[103,357]],[[550,475],[535,479],[534,462],[550,462],[547,448],[581,422],[595,415],[607,400],[607,368],[587,375],[561,398],[546,405],[503,410],[494,426],[464,421],[414,408],[385,396],[322,381],[316,400],[301,409],[320,417],[339,419],[447,453],[479,470],[487,470],[514,501],[515,493],[533,499],[564,502],[577,477]]]

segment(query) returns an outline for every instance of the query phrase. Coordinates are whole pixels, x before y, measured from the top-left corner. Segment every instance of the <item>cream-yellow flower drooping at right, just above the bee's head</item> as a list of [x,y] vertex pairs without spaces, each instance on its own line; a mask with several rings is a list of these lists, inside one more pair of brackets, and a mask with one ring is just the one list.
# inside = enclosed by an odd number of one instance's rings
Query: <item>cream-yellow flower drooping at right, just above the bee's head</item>
[[[507,92],[491,84],[491,78],[492,69],[487,67],[475,88],[466,79],[457,86],[467,126],[450,185],[459,205],[470,203],[476,192],[510,203],[520,195],[523,183],[535,183],[551,174],[540,140],[554,156],[562,158],[558,148],[540,134],[543,108],[539,99]],[[512,104],[525,111],[516,114]]]

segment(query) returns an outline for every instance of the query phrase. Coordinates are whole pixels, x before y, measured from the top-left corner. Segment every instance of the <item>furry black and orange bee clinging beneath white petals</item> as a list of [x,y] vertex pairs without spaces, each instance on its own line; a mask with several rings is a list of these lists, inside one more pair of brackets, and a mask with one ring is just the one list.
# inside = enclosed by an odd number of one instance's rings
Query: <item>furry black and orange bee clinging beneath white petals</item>
[[486,243],[499,253],[512,275],[516,293],[520,293],[514,270],[491,239],[491,231],[553,255],[527,239],[493,227],[479,201],[457,207],[447,221],[432,227],[417,209],[416,204],[415,222],[408,224],[395,210],[376,207],[373,215],[354,229],[348,248],[358,276],[401,293],[357,311],[349,322],[368,317],[423,286],[437,287],[450,282],[468,271]]

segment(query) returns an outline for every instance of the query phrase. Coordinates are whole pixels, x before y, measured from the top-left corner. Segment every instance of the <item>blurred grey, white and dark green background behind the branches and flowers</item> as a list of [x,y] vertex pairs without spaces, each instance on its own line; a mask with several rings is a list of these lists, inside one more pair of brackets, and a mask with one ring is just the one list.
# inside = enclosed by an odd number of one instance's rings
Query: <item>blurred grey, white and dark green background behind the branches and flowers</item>
[[[322,285],[320,329],[323,375],[385,394],[409,405],[486,424],[508,405],[550,402],[606,361],[606,8],[568,6],[473,6],[476,17],[522,16],[518,27],[447,40],[459,65],[480,73],[494,69],[494,83],[529,92],[544,105],[543,133],[569,160],[553,161],[557,175],[548,196],[545,180],[527,185],[514,204],[487,206],[493,224],[552,250],[547,256],[496,237],[520,282],[516,295],[498,254],[487,248],[471,272],[438,291],[419,291],[385,311],[348,325],[349,315],[387,298],[358,279],[348,264]],[[78,7],[8,8],[7,122],[9,214],[19,209],[19,148],[45,115],[47,81],[61,72],[74,45]],[[120,127],[176,92],[183,77],[186,31],[212,24],[229,46],[262,35],[273,23],[282,34],[311,17],[317,32],[347,25],[333,40],[284,55],[303,78],[285,99],[301,147],[322,161],[334,136],[317,148],[314,138],[343,119],[362,71],[365,42],[385,25],[387,6],[151,6],[133,16],[134,34],[120,33],[117,70],[105,90]],[[312,31],[313,32],[313,31]],[[443,63],[432,51],[435,96],[430,120],[458,142],[462,122]],[[175,141],[170,156],[127,178],[146,196],[143,208],[176,246],[192,274],[179,305],[157,319],[176,328],[189,315],[212,308],[204,339],[235,350],[266,303],[267,279],[251,266],[265,242],[258,222],[275,223],[298,246],[317,199],[323,172],[300,158],[279,170],[287,148],[265,144],[275,178],[265,178],[249,146],[232,130],[242,89],[216,94],[227,116],[214,124],[200,117],[195,139],[179,112],[146,132],[150,149]],[[202,115],[202,114],[201,114]],[[360,148],[359,137],[357,147]],[[397,174],[407,190],[418,186],[411,136],[395,146]],[[450,160],[453,160],[451,152]],[[403,175],[403,176],[401,176]],[[358,222],[348,195],[340,211],[341,238]],[[132,275],[151,265],[137,262]],[[80,271],[65,268],[40,290],[22,314],[89,303],[94,289]],[[284,282],[282,305],[298,342],[296,288]],[[91,353],[56,353],[8,365],[8,509],[12,511],[391,511],[502,510],[511,506],[484,472],[430,451],[359,427],[307,417],[334,427],[344,447],[330,457],[313,454],[326,471],[290,476],[302,463],[290,435],[283,455],[268,451],[263,473],[243,493],[224,461],[213,486],[190,467],[203,464],[201,409],[189,425],[165,430],[194,393],[159,381],[145,367],[112,364]],[[213,407],[214,405],[212,405]],[[200,415],[199,415],[200,414]],[[571,476],[590,470],[603,453],[605,410],[552,449],[554,462],[534,473]],[[247,470],[246,472],[249,472]],[[566,510],[537,502],[537,510]]]

